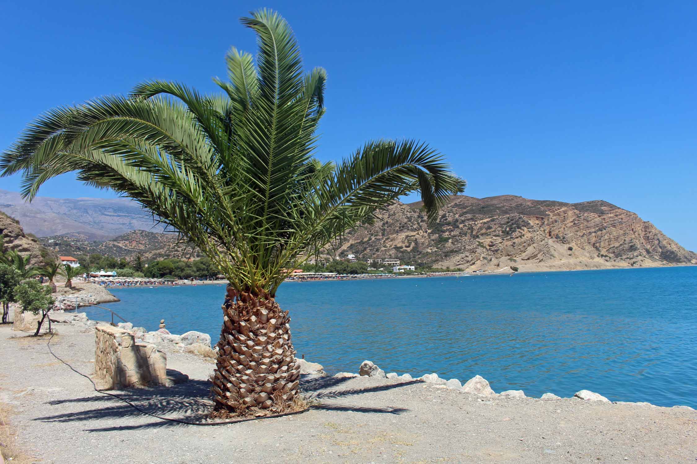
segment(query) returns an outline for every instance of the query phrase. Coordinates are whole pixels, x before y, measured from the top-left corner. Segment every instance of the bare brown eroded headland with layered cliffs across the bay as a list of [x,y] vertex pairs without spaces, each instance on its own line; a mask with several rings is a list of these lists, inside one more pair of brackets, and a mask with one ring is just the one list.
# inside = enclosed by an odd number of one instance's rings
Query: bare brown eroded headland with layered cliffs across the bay
[[697,264],[697,254],[652,223],[604,201],[564,203],[514,195],[454,197],[427,227],[420,203],[395,203],[383,221],[350,232],[339,253],[466,270],[605,269]]

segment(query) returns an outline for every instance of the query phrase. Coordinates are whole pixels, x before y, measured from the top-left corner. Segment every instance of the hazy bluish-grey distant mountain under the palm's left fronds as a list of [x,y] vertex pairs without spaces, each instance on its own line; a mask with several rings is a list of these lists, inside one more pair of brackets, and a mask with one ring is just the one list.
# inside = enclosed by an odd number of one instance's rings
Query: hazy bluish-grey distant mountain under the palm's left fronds
[[0,190],[0,210],[38,237],[77,232],[91,240],[106,240],[130,230],[164,230],[151,214],[127,198],[36,197],[26,203],[19,193]]

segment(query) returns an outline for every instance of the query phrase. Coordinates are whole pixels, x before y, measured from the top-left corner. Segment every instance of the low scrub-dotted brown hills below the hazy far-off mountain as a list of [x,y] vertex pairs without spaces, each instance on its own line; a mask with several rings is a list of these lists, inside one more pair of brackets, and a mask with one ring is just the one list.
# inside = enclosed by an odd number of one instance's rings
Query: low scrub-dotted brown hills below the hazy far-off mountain
[[60,255],[89,255],[98,253],[117,258],[125,257],[129,261],[136,255],[143,259],[163,258],[199,258],[201,253],[190,243],[178,240],[176,234],[132,230],[114,239],[91,240],[84,234],[62,234],[39,239],[47,248]]

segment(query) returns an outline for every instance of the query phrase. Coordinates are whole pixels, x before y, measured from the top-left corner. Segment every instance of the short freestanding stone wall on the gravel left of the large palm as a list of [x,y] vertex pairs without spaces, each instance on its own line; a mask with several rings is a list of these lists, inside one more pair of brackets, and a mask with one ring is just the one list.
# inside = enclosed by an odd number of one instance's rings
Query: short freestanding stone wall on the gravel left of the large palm
[[131,385],[167,385],[167,355],[154,345],[136,343],[123,328],[95,327],[95,374],[118,390]]

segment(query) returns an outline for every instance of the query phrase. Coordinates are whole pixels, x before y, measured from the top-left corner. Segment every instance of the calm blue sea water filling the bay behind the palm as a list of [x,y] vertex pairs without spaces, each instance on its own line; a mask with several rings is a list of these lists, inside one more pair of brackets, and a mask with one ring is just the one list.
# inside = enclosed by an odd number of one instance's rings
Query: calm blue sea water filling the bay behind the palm
[[[220,334],[224,287],[115,289],[135,326]],[[496,392],[697,408],[697,267],[287,282],[298,357],[325,370],[480,374]],[[91,318],[105,319],[95,310]]]

